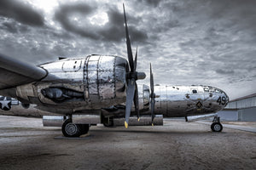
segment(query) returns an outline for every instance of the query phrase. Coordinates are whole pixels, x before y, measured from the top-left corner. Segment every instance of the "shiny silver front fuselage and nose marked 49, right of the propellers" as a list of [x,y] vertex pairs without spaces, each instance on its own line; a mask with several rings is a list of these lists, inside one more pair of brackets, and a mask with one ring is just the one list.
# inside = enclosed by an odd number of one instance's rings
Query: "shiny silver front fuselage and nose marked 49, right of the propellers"
[[164,116],[193,116],[224,109],[228,96],[209,86],[154,86],[155,114]]

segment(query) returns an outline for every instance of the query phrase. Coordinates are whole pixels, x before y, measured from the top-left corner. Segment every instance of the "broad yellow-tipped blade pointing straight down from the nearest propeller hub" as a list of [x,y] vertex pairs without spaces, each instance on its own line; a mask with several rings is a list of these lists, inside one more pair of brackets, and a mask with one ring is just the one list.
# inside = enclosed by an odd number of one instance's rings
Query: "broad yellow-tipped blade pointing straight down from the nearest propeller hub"
[[136,88],[136,82],[134,78],[127,80],[127,91],[126,91],[126,106],[125,106],[125,128],[128,127],[129,118],[131,115],[131,106],[134,98],[134,92]]

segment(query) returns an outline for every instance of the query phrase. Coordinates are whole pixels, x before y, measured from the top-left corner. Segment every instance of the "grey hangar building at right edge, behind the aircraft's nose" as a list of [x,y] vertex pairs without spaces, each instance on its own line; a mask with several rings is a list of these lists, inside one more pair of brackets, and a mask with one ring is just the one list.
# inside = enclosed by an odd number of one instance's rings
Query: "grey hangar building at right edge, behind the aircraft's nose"
[[256,122],[256,94],[230,100],[218,116],[222,121]]

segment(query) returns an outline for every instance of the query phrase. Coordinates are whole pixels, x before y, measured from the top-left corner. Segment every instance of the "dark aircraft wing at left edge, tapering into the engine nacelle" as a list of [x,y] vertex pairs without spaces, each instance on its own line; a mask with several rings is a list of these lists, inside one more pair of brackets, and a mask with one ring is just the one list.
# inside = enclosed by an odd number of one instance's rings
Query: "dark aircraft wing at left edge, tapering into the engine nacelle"
[[0,54],[0,90],[41,80],[47,74],[41,67]]

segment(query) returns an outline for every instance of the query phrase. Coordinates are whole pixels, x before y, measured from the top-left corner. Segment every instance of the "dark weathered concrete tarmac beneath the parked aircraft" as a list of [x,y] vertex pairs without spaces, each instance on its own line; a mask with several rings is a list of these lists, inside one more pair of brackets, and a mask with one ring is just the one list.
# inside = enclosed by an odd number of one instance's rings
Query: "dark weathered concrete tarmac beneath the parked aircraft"
[[[241,126],[241,125],[240,125]],[[78,139],[42,120],[0,116],[0,169],[256,169],[256,133],[200,122],[90,127]]]

